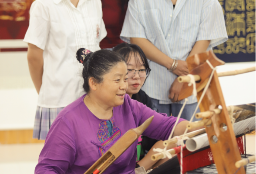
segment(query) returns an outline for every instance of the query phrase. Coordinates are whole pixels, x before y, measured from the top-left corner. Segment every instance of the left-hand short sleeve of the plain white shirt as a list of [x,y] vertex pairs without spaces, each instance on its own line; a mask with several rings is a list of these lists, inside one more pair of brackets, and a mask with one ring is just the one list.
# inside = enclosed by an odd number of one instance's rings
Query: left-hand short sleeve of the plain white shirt
[[24,42],[31,43],[44,50],[50,31],[50,17],[47,7],[40,1],[34,1],[30,8],[30,20]]

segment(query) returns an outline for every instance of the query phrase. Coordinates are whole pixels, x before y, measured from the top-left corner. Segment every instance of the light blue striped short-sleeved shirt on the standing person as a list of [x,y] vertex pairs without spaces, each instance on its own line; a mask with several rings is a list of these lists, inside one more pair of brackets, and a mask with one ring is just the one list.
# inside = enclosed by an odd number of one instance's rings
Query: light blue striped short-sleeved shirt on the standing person
[[[175,9],[171,0],[130,0],[121,39],[130,37],[146,38],[176,60],[186,60],[199,40],[211,40],[208,50],[228,40],[218,0],[178,0]],[[152,73],[142,89],[159,104],[171,104],[169,89],[177,75],[153,61],[149,65]],[[189,97],[188,104],[195,102]]]

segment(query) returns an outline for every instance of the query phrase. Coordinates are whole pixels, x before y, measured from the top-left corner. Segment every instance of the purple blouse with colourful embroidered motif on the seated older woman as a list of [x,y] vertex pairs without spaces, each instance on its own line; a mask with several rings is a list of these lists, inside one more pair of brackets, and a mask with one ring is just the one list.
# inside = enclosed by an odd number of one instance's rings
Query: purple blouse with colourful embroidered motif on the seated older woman
[[[126,94],[124,104],[114,107],[109,133],[106,120],[91,113],[84,97],[65,107],[54,120],[35,174],[84,174],[125,132],[149,117],[155,116],[143,135],[163,141],[168,139],[176,121],[176,117],[159,114]],[[132,144],[104,174],[135,174],[137,144],[138,141]]]

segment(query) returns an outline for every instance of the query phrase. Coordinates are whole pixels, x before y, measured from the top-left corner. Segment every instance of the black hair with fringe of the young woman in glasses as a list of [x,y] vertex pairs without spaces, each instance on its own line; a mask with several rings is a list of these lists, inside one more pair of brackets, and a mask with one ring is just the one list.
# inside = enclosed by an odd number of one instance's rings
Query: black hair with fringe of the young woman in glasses
[[[125,58],[126,64],[128,64],[129,61],[131,60],[131,56],[134,55],[136,66],[138,66],[140,64],[140,62],[142,61],[143,65],[145,66],[145,69],[150,70],[150,67],[148,64],[148,59],[147,59],[146,55],[144,54],[144,52],[141,50],[141,47],[139,47],[138,45],[131,44],[131,43],[121,43],[118,46],[116,46],[115,48],[113,48],[113,51],[120,53]],[[144,84],[145,84],[145,82],[144,82]],[[137,100],[139,102],[141,101],[140,96],[138,94],[134,94],[132,96],[132,98],[134,98],[135,100]]]

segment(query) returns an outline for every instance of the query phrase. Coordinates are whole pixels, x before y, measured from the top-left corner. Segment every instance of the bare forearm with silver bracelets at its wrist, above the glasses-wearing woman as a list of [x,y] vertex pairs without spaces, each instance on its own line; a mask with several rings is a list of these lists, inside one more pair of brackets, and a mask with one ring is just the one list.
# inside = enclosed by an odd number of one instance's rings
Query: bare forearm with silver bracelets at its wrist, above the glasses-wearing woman
[[173,59],[162,53],[162,51],[158,50],[154,44],[152,44],[149,40],[145,38],[130,38],[131,43],[138,45],[141,47],[146,57],[153,62],[160,64],[167,69],[170,69],[173,64]]

